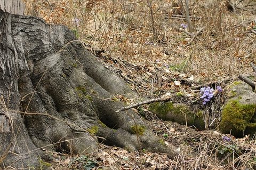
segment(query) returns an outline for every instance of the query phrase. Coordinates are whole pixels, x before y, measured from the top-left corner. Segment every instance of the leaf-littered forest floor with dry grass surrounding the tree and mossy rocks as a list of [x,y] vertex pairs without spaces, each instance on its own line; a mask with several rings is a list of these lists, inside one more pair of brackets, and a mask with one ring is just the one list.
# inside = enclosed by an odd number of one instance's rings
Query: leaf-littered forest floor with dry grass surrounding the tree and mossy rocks
[[[256,1],[190,1],[191,30],[180,1],[24,0],[26,14],[67,25],[99,61],[116,72],[141,100],[181,93],[182,102],[203,86],[225,87],[251,75],[256,63]],[[233,6],[232,6],[233,5]],[[204,107],[203,104],[201,107]],[[205,108],[207,109],[207,108]],[[163,153],[127,151],[102,145],[92,155],[52,153],[53,169],[255,169],[256,141],[218,129],[163,122],[140,107],[153,132],[180,148],[173,160]],[[250,136],[252,137],[252,136]]]

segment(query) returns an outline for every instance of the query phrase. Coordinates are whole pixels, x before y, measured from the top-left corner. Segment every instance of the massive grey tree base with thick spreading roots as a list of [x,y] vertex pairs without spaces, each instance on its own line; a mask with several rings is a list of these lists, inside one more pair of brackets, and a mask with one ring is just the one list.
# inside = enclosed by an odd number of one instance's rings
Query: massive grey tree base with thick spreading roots
[[135,93],[66,26],[0,10],[0,163],[38,164],[39,148],[90,153],[98,142],[175,155],[115,98]]

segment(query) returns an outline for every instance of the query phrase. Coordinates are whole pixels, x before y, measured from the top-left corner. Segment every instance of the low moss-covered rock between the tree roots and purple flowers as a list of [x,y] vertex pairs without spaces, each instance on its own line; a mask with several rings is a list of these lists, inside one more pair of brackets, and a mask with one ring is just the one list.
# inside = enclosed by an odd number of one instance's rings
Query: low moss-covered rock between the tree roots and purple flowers
[[194,112],[187,104],[156,102],[150,104],[149,110],[163,120],[205,129],[203,111]]

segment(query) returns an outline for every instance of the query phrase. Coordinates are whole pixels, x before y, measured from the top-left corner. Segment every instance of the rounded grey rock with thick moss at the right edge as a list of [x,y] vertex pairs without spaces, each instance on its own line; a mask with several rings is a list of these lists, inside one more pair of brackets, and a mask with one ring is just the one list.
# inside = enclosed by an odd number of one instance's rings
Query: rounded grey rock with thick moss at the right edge
[[223,107],[219,129],[236,137],[256,132],[256,93],[244,82],[234,82],[226,87],[228,101]]

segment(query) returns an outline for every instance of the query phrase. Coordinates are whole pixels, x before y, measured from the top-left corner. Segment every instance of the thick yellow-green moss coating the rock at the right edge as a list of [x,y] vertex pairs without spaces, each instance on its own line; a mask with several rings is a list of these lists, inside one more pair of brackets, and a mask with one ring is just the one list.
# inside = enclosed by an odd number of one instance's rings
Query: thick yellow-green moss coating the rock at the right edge
[[241,104],[238,100],[230,100],[223,108],[220,131],[242,136],[246,127],[250,127],[251,119],[256,111],[256,104]]

